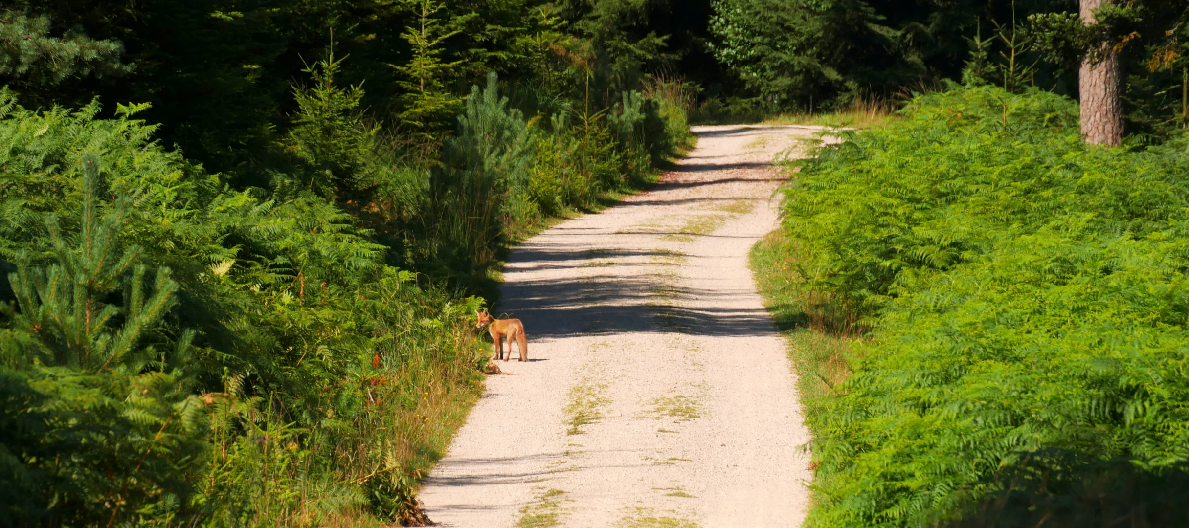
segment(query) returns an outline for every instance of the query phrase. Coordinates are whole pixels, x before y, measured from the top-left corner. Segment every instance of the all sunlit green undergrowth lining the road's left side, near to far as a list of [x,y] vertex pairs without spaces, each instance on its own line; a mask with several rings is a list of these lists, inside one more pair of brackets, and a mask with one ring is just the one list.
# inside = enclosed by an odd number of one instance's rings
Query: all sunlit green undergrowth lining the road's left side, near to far
[[339,62],[295,89],[302,114],[271,153],[289,171],[268,189],[164,149],[134,119],[146,105],[99,119],[97,101],[29,111],[0,93],[6,522],[428,522],[419,483],[489,356],[468,318],[492,300],[468,294],[517,237],[646,184],[688,144],[667,101],[624,90],[546,126],[492,75],[417,161],[360,118]]

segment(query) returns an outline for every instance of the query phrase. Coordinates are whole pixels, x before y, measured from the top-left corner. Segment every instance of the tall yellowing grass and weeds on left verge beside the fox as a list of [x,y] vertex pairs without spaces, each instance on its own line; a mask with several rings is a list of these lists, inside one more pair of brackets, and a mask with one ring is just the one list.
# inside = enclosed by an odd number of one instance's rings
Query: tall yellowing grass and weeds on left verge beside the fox
[[[364,357],[323,386],[323,409],[253,396],[231,375],[210,394],[212,445],[200,483],[210,526],[371,527],[426,522],[416,502],[424,472],[482,392],[489,348],[476,341],[474,300],[447,300],[407,282],[358,291]],[[329,350],[312,362],[332,362]],[[290,404],[290,407],[292,407]],[[292,416],[320,413],[317,419]]]

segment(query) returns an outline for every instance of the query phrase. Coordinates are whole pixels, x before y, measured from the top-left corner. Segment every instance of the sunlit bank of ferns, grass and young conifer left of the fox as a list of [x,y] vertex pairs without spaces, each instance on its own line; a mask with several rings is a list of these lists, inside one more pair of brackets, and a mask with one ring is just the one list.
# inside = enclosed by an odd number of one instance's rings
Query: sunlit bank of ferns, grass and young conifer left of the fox
[[18,301],[0,318],[7,511],[408,515],[476,394],[479,300],[416,287],[309,191],[229,190],[152,143],[130,119],[143,107],[101,120],[97,103],[32,112],[5,94],[0,108],[0,210],[14,219],[0,259],[19,264],[0,290]]

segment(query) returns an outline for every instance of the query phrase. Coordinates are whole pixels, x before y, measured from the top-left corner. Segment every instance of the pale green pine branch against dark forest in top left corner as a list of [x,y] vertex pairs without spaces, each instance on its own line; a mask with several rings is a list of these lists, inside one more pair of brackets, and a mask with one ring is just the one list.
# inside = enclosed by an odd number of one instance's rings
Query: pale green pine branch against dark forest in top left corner
[[50,36],[50,17],[0,12],[0,76],[33,84],[58,84],[67,77],[119,76],[133,70],[120,63],[124,44],[95,40],[77,29]]

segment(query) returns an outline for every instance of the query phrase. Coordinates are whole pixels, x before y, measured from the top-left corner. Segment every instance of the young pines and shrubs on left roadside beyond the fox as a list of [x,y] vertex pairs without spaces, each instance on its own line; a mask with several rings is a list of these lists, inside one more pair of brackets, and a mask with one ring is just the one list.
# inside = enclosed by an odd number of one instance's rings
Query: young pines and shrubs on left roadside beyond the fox
[[548,127],[530,126],[491,74],[486,88],[472,88],[457,136],[442,146],[410,259],[476,288],[501,249],[546,215],[597,207],[646,183],[688,142],[684,107],[663,101],[624,92],[610,108],[579,118],[562,111]]

